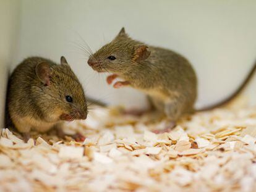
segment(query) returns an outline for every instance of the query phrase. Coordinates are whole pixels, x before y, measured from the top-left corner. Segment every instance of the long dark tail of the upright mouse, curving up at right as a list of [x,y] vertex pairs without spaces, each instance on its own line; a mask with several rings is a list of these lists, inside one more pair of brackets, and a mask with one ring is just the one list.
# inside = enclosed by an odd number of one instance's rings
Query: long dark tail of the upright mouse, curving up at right
[[244,81],[242,81],[241,85],[237,88],[236,91],[234,91],[233,94],[231,94],[230,96],[228,96],[228,98],[223,99],[220,102],[217,102],[216,104],[210,105],[210,106],[206,106],[203,107],[202,109],[196,109],[197,112],[202,112],[202,111],[209,111],[211,109],[217,108],[217,107],[222,107],[225,104],[228,104],[228,102],[230,102],[231,100],[233,100],[234,98],[236,98],[240,93],[242,93],[242,91],[244,91],[244,89],[246,88],[246,86],[248,85],[249,81],[252,80],[252,77],[254,77],[254,73],[256,72],[256,62],[254,64],[254,66],[252,67],[252,69],[250,70],[249,74],[247,75],[247,77],[245,78]]

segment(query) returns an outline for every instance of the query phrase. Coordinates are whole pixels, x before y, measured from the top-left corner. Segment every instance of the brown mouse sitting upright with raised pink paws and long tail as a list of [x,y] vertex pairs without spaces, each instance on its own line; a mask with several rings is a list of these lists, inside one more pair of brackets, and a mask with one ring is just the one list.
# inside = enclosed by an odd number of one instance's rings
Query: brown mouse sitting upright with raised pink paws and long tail
[[112,73],[106,79],[108,84],[122,78],[123,81],[114,83],[114,88],[130,86],[147,94],[155,109],[168,117],[171,127],[185,114],[208,111],[231,101],[244,90],[256,71],[254,64],[241,86],[228,98],[195,109],[197,75],[192,64],[177,52],[130,38],[124,28],[113,41],[93,53],[87,63],[96,72]]

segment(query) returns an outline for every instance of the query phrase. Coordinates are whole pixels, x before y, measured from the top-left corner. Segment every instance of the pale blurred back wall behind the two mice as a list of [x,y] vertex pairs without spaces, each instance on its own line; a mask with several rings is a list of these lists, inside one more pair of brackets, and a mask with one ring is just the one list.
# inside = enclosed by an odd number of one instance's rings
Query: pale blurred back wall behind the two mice
[[[111,104],[143,106],[145,100],[130,88],[114,90],[90,69],[72,43],[83,44],[77,32],[96,50],[124,26],[132,38],[180,52],[197,72],[198,106],[228,96],[256,60],[256,1],[22,0],[21,18],[14,64],[32,55],[55,61],[64,55],[87,95]],[[252,98],[255,80],[247,91]]]

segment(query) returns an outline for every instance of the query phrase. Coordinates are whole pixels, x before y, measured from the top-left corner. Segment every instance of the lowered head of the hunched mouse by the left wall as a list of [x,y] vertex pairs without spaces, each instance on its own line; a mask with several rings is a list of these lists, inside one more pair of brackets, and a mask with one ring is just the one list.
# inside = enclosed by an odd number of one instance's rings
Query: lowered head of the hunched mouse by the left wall
[[65,57],[61,64],[44,61],[36,65],[38,86],[36,105],[40,108],[45,120],[72,121],[87,118],[87,102],[82,85],[72,72]]

